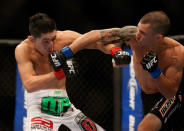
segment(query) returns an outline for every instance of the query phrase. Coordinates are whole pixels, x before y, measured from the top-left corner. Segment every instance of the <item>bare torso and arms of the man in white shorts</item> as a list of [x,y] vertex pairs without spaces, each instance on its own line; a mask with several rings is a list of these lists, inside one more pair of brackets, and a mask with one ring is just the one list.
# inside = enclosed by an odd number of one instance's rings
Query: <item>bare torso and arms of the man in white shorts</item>
[[[53,50],[60,50],[70,45],[79,36],[81,34],[74,31],[53,31],[48,34],[42,34],[41,40],[45,42],[41,47],[35,47],[34,39],[31,36],[28,36],[16,47],[15,57],[18,63],[18,70],[23,85],[28,92],[66,88],[65,78],[59,81],[56,79],[53,68],[48,61],[48,54]],[[114,44],[94,43],[85,48],[99,49],[104,53],[110,53],[110,49],[114,46]]]

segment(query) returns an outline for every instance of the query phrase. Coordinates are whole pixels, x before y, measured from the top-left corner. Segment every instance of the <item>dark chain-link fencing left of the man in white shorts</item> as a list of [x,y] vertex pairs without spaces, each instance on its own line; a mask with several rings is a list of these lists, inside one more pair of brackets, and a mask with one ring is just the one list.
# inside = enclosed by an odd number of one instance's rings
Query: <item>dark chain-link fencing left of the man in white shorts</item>
[[0,131],[12,131],[15,107],[15,45],[0,44]]

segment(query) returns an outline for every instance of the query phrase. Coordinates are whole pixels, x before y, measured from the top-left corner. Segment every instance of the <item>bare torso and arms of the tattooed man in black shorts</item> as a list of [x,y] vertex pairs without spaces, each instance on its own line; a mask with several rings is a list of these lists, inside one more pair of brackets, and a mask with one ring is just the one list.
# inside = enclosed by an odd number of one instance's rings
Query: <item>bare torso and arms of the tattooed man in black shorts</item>
[[[153,43],[153,36],[151,36],[149,26],[144,26],[144,30],[139,31],[140,39],[135,38],[136,34],[132,31],[132,27],[127,28],[127,30],[124,28],[92,30],[75,40],[71,45],[71,49],[78,51],[79,48],[77,47],[87,44],[90,45],[97,41],[107,44],[113,41],[124,41],[131,38],[127,43],[133,51],[134,70],[142,90],[147,94],[160,92],[166,98],[171,98],[176,94],[181,81],[184,65],[184,48],[179,42],[173,39],[159,36],[160,41],[158,41],[159,43],[152,50],[158,56],[158,65],[162,70],[162,74],[157,79],[153,79],[140,64],[143,57],[150,51],[150,48],[143,46],[142,38],[144,37],[142,35],[147,35],[144,43],[152,44],[153,46],[155,44]],[[143,34],[141,34],[142,32]],[[132,34],[134,34],[134,37]]]

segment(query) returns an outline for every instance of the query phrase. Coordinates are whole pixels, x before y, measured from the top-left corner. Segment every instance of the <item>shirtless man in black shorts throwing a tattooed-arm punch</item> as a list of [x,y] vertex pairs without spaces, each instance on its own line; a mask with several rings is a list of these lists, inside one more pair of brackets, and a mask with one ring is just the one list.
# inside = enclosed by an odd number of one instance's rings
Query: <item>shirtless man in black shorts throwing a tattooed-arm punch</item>
[[[168,130],[171,129],[169,126],[174,126],[174,123],[168,124],[166,118],[171,118],[168,114],[175,108],[173,97],[182,78],[184,48],[179,42],[165,36],[169,26],[169,18],[164,12],[153,11],[145,14],[137,27],[92,30],[69,46],[74,53],[83,46],[97,41],[108,44],[122,40],[131,46],[136,78],[143,91],[143,106],[152,103],[147,109],[151,110],[154,102],[159,103],[159,106],[153,107],[151,113],[145,113],[148,114],[140,123],[139,131],[159,130],[165,127]],[[156,101],[153,101],[154,99]]]

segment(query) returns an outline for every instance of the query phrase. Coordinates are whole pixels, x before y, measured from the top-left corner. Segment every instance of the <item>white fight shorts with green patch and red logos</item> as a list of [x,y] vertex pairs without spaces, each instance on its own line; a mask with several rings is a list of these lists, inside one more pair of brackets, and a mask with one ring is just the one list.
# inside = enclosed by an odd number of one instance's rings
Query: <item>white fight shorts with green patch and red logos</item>
[[104,131],[70,103],[65,90],[26,93],[24,131]]

